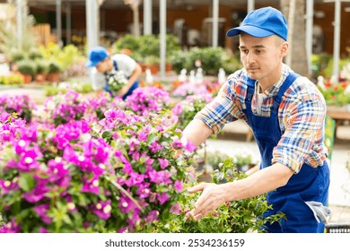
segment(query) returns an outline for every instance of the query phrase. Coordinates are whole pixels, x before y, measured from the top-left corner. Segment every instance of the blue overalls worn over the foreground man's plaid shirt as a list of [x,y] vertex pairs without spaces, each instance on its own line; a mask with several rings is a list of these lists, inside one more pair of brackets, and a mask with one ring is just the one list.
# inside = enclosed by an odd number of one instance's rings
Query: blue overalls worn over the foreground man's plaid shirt
[[[251,127],[255,139],[258,143],[258,149],[261,154],[260,169],[271,166],[273,158],[272,153],[277,145],[283,132],[281,132],[278,122],[278,108],[284,91],[286,91],[297,74],[289,74],[278,91],[274,105],[271,108],[270,117],[260,117],[251,111],[251,99],[254,94],[255,80],[248,80],[248,92],[245,100],[246,109],[243,112],[248,118],[248,124]],[[272,204],[273,209],[267,211],[264,216],[276,214],[276,212],[284,212],[286,220],[273,224],[267,224],[267,232],[306,232],[319,233],[324,231],[324,224],[318,223],[309,206],[305,203],[308,201],[316,201],[327,204],[329,186],[329,169],[327,161],[318,168],[312,168],[304,163],[302,169],[294,174],[285,186],[267,194],[267,202]]]

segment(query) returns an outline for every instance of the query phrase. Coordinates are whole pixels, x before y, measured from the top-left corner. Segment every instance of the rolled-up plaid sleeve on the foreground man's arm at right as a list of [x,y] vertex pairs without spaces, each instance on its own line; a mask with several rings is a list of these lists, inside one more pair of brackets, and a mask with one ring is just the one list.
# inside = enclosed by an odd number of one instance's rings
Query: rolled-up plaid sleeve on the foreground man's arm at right
[[279,162],[298,173],[303,163],[313,167],[327,158],[323,147],[326,104],[318,95],[284,104],[285,130],[273,152],[272,162]]

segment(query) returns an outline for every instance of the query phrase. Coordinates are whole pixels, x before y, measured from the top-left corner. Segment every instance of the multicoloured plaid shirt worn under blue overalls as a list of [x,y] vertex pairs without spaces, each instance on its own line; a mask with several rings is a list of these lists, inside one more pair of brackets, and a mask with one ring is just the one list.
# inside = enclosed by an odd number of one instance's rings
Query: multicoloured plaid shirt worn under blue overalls
[[[252,98],[251,108],[254,114],[270,116],[273,100],[291,68],[283,65],[281,78],[262,95],[262,105],[257,109],[258,94]],[[247,95],[247,72],[242,69],[231,74],[217,97],[197,113],[214,134],[219,133],[223,125],[247,117],[243,113]],[[326,102],[315,84],[305,77],[299,77],[285,91],[278,109],[278,121],[282,137],[273,151],[272,163],[282,163],[299,172],[303,163],[317,168],[323,164],[328,150],[323,143]]]

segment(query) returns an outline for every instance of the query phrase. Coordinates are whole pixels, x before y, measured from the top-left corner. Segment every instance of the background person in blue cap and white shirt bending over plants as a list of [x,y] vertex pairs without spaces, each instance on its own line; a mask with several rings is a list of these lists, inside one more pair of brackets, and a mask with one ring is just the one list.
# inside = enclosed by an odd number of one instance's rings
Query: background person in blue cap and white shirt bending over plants
[[142,73],[141,66],[136,61],[125,54],[109,56],[108,51],[102,47],[92,48],[89,52],[87,67],[93,67],[91,71],[92,89],[100,93],[109,90],[108,80],[112,70],[122,71],[127,78],[126,85],[118,92],[118,96],[123,100],[138,87],[138,78]]

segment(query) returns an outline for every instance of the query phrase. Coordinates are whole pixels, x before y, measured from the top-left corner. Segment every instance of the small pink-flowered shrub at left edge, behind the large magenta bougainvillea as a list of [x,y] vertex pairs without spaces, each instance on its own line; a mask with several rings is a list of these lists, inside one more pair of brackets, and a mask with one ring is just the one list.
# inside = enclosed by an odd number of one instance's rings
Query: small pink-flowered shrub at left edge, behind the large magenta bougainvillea
[[31,122],[31,111],[36,108],[36,104],[28,95],[2,95],[0,96],[0,114],[15,112],[18,117],[22,117],[28,123]]

